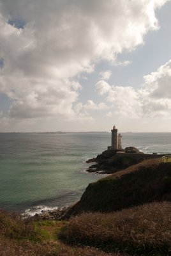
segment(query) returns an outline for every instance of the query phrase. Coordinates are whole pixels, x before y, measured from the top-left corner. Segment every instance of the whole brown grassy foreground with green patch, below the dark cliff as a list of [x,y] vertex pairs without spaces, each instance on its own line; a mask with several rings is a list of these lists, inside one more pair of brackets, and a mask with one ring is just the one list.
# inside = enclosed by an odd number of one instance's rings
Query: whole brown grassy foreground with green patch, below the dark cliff
[[0,255],[168,256],[170,214],[170,202],[36,223],[0,211]]

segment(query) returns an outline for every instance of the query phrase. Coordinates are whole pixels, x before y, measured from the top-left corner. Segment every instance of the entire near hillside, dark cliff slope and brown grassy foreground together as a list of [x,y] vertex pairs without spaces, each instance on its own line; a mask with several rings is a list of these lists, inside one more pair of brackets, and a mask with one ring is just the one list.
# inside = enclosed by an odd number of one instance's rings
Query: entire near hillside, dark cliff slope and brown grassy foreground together
[[0,255],[169,256],[170,170],[171,163],[153,159],[90,184],[65,218],[91,213],[69,221],[23,220],[0,211]]

